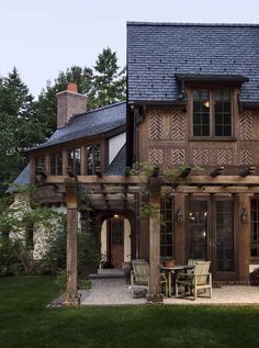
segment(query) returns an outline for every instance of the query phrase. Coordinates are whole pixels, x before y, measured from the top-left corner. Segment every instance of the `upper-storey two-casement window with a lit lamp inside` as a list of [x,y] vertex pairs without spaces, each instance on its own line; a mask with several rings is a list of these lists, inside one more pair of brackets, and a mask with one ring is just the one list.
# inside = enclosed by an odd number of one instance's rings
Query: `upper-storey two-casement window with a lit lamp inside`
[[193,90],[193,136],[232,136],[232,90]]

